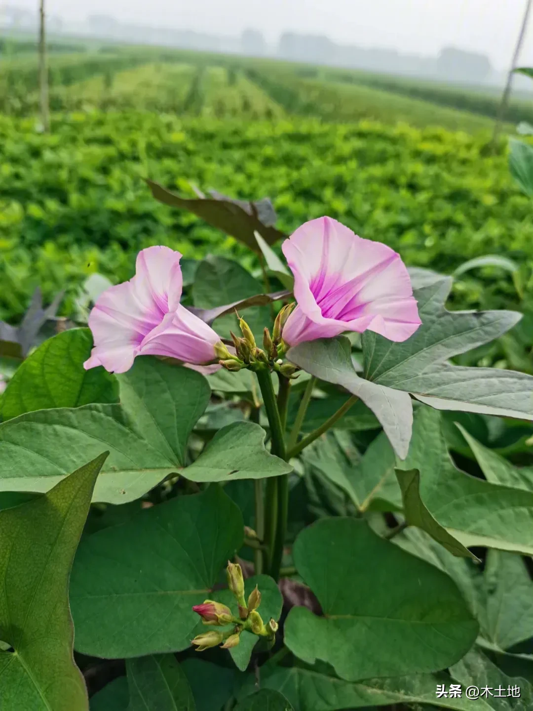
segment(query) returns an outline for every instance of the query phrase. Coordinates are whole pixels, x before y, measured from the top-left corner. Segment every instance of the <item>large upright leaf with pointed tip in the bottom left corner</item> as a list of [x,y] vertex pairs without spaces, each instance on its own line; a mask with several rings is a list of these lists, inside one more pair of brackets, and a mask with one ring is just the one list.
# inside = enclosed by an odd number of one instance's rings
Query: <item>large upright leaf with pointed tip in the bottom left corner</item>
[[1,703],[12,711],[84,711],[72,656],[68,579],[92,489],[107,454],[45,496],[0,512]]

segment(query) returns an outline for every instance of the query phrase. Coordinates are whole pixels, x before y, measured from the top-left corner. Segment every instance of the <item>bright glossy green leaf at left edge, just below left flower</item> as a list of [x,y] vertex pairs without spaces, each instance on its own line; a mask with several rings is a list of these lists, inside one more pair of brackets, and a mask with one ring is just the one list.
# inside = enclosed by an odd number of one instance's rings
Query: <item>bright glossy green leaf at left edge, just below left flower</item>
[[106,370],[84,370],[91,353],[88,328],[72,328],[49,338],[23,361],[0,400],[0,420],[52,407],[118,402],[116,378]]

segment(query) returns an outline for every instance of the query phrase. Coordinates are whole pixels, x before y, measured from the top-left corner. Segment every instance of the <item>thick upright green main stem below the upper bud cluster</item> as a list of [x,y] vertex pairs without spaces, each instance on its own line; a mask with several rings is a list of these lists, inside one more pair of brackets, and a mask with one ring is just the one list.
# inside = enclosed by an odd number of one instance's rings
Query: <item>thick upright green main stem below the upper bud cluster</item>
[[[280,459],[287,459],[285,451],[285,429],[278,410],[272,378],[267,368],[255,371],[257,375],[265,410],[270,424],[270,451],[279,456]],[[282,385],[280,383],[280,389]],[[288,395],[288,388],[287,388]],[[281,402],[285,399],[282,396]],[[286,402],[285,402],[286,406]],[[280,576],[280,565],[283,555],[283,543],[285,541],[285,531],[287,528],[287,501],[288,501],[288,477],[273,476],[267,479],[265,496],[265,544],[268,546],[268,573],[278,580]]]

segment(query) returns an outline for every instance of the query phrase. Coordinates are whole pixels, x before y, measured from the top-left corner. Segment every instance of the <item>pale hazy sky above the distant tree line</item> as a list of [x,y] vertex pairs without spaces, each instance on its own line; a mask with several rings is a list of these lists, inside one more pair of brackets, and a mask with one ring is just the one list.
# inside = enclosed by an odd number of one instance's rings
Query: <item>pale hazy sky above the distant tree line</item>
[[[7,0],[36,8],[38,0]],[[252,27],[269,41],[282,31],[321,33],[343,43],[436,54],[443,46],[471,48],[506,68],[526,0],[47,0],[65,19],[110,14],[151,26],[238,34]],[[533,63],[533,12],[522,52]]]

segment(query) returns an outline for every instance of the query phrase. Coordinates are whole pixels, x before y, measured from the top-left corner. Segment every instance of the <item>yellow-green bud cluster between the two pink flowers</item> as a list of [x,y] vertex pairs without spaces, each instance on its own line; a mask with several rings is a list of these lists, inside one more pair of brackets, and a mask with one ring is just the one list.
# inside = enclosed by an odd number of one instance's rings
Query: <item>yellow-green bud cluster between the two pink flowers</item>
[[285,343],[282,341],[283,326],[285,326],[285,322],[294,307],[294,303],[282,306],[278,316],[276,316],[272,336],[270,336],[268,328],[265,328],[263,333],[264,350],[258,348],[250,326],[237,314],[242,336],[236,336],[235,333],[230,331],[236,355],[231,355],[224,346],[226,352],[222,353],[221,351],[219,353],[217,351],[216,353],[217,358],[220,358],[220,365],[231,371],[241,370],[241,368],[258,370],[266,365],[270,370],[276,370],[278,373],[285,375],[285,378],[292,378],[298,368],[292,363],[283,363],[280,356],[285,351]]

